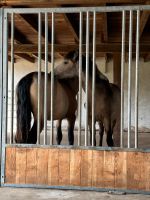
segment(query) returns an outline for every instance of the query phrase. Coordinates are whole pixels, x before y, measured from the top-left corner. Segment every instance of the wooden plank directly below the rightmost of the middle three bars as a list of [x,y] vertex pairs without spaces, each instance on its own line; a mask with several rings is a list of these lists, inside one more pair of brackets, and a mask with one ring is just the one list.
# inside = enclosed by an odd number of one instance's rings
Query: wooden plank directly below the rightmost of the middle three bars
[[93,150],[93,170],[92,170],[92,186],[93,187],[104,188],[103,163],[104,163],[104,151]]

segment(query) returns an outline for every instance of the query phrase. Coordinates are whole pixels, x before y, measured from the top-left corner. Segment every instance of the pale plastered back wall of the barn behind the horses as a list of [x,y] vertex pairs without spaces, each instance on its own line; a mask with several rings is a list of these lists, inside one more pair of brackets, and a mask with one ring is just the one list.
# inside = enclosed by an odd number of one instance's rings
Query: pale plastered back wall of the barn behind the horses
[[[106,63],[105,58],[98,58],[96,61],[99,69],[102,73],[104,73],[110,80],[110,82],[113,82],[113,61],[110,60],[108,63]],[[143,60],[140,60],[140,93],[139,93],[139,126],[141,129],[147,130],[150,129],[150,92],[149,92],[149,74],[150,74],[150,62],[143,62]],[[44,62],[42,63],[42,66],[44,67]],[[142,66],[142,67],[141,67]],[[134,126],[134,69],[135,69],[135,61],[133,61],[132,65],[132,126]],[[15,63],[15,86],[17,82],[20,80],[21,77],[23,77],[25,74],[36,71],[37,70],[37,63],[30,63],[26,60],[18,60],[17,63]],[[50,65],[49,65],[50,70]],[[128,63],[125,64],[125,128],[127,127],[127,76],[128,76]],[[9,63],[9,79],[10,79],[10,63]],[[9,83],[9,90],[10,90],[10,81]],[[83,97],[84,102],[84,97]],[[83,112],[82,112],[82,124],[84,125],[84,117],[85,117],[85,108],[83,106]],[[64,122],[64,125],[66,123]],[[10,126],[8,126],[10,127]]]

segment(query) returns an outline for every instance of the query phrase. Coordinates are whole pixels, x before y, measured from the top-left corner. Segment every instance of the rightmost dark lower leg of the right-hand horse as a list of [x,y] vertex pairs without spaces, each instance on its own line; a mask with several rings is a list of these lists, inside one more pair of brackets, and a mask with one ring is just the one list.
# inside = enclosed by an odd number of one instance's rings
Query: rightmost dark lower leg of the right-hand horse
[[110,120],[108,119],[104,119],[104,128],[105,128],[105,131],[106,131],[106,141],[107,141],[107,145],[109,147],[113,147],[114,146],[114,141],[113,141],[113,138],[112,138],[112,129],[111,129],[111,123],[110,123]]

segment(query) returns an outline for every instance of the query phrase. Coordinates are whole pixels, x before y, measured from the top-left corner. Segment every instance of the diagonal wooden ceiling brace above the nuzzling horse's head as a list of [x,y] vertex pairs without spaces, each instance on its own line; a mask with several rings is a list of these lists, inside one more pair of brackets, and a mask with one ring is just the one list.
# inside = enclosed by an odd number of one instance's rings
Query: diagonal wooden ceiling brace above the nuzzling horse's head
[[74,16],[72,14],[63,14],[65,21],[69,25],[69,29],[73,34],[73,37],[76,42],[79,42],[79,27],[76,25],[74,21]]

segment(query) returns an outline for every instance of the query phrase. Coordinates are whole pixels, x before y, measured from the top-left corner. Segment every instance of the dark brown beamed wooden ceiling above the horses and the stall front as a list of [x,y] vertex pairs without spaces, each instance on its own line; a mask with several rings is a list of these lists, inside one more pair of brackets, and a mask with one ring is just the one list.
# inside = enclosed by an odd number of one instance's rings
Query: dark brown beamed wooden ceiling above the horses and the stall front
[[[133,4],[134,3],[134,4]],[[148,0],[1,0],[1,7],[47,8],[79,6],[149,5]],[[121,13],[97,13],[96,15],[97,56],[110,56],[121,52]],[[38,16],[36,14],[15,14],[15,58],[34,62],[38,55]],[[92,43],[93,16],[90,14],[90,43]],[[9,16],[9,29],[10,29]],[[10,33],[10,31],[9,31]],[[129,13],[126,16],[126,42],[128,43]],[[48,15],[49,52],[51,48],[51,14]],[[42,58],[44,59],[44,15],[42,15]],[[133,15],[133,52],[135,52],[136,13]],[[83,49],[86,38],[86,15],[83,17]],[[55,57],[62,57],[79,44],[79,14],[55,14]],[[90,48],[92,50],[92,48]],[[126,45],[128,51],[128,45]],[[10,51],[10,34],[9,34]],[[134,55],[134,54],[133,54]],[[140,56],[150,60],[150,11],[140,15]],[[10,56],[9,56],[10,59]],[[49,53],[49,61],[50,53]]]

